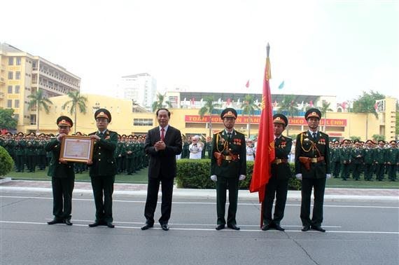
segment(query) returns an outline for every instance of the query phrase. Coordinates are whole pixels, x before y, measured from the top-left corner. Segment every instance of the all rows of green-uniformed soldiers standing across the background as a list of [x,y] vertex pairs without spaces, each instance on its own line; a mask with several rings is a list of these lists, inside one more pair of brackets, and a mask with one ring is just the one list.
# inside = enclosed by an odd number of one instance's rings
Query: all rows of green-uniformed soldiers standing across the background
[[[76,132],[76,135],[83,135]],[[18,132],[13,135],[7,132],[0,137],[0,145],[4,147],[15,162],[16,172],[35,172],[45,170],[51,160],[51,152],[46,152],[44,147],[55,135],[44,134],[36,136],[34,132],[25,135]],[[133,175],[135,172],[148,166],[148,157],[144,153],[145,136],[118,135],[118,147],[115,155],[118,163],[118,174]],[[212,139],[201,139],[204,148],[202,158],[211,157]],[[191,137],[183,135],[183,151],[181,158],[189,158],[188,150]],[[342,180],[381,181],[385,175],[388,180],[396,181],[399,170],[399,143],[394,140],[377,143],[372,140],[330,142],[331,172],[333,177]],[[75,172],[82,173],[87,170],[84,163],[75,163]]]

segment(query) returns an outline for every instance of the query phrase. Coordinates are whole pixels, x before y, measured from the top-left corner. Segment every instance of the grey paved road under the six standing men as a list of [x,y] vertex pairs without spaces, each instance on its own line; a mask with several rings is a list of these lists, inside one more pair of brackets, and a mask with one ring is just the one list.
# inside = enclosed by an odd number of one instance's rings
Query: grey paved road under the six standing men
[[[0,186],[1,265],[396,265],[399,260],[399,203],[375,200],[395,196],[395,191],[373,191],[367,202],[326,202],[323,227],[327,232],[320,233],[300,231],[300,202],[292,194],[281,222],[284,232],[260,231],[259,203],[256,194],[248,196],[247,191],[240,195],[237,211],[241,231],[216,231],[216,200],[207,197],[215,191],[175,189],[171,229],[165,232],[159,224],[140,230],[145,185],[137,187],[139,191],[123,185],[128,189],[124,192],[116,185],[116,228],[109,229],[87,226],[94,219],[90,184],[77,183],[73,226],[45,223],[52,219],[52,193],[41,186],[49,182],[36,187],[28,187],[32,182],[18,183],[25,187],[15,184]],[[340,191],[329,192],[339,198]],[[353,196],[348,192],[340,197]],[[155,219],[159,217],[160,203]]]

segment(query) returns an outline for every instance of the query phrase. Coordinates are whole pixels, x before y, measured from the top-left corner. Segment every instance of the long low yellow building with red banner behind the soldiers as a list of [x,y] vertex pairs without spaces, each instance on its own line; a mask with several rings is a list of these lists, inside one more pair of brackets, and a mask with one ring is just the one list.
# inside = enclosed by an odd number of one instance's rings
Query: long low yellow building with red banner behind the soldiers
[[[99,108],[109,109],[112,115],[112,121],[109,125],[110,130],[115,130],[120,135],[125,134],[146,134],[146,132],[157,126],[158,122],[155,113],[148,112],[140,107],[133,106],[131,100],[121,100],[116,97],[107,97],[103,95],[84,95],[87,97],[87,113],[77,114],[76,131],[89,133],[96,130],[94,122],[94,112]],[[50,113],[43,111],[40,116],[41,132],[56,132],[55,121],[60,115],[70,116],[69,107],[62,109],[62,104],[69,100],[66,95],[51,98],[53,104],[50,107]],[[395,139],[395,99],[386,98],[384,100],[385,109],[379,111],[379,118],[372,114],[356,114],[348,112],[328,112],[326,120],[321,120],[321,130],[325,130],[331,139],[342,140],[350,136],[360,137],[361,140],[367,140],[372,135],[385,135],[386,140]],[[170,124],[184,135],[209,135],[209,116],[200,117],[199,109],[169,109],[172,113]],[[251,117],[251,136],[258,134],[259,115]],[[212,115],[212,132],[217,132],[223,128],[223,123],[218,114]],[[367,130],[366,130],[366,123]],[[307,130],[307,123],[303,116],[289,117],[289,135],[297,135],[303,130]],[[325,129],[324,129],[325,124]],[[244,134],[248,134],[248,116],[239,114],[235,128]],[[35,131],[36,125],[26,125],[24,132]],[[75,128],[73,128],[73,131]],[[286,130],[287,132],[287,130]],[[366,137],[367,133],[367,137]]]

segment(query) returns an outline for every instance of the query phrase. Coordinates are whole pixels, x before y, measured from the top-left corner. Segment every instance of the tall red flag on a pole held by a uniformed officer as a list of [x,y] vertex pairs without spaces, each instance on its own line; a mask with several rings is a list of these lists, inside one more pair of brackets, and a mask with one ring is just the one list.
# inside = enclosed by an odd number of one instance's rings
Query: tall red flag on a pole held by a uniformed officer
[[260,114],[258,144],[253,164],[253,173],[249,191],[259,192],[259,202],[265,198],[265,185],[271,177],[271,163],[274,161],[274,133],[272,97],[270,96],[269,79],[271,79],[269,45],[267,45],[267,58],[265,77],[263,79],[262,112]]

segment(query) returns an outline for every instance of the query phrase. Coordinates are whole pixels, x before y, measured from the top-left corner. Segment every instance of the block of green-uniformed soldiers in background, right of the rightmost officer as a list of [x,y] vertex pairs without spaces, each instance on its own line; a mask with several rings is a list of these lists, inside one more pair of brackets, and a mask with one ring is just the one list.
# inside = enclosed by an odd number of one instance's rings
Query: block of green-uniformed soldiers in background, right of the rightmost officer
[[330,142],[331,172],[342,180],[360,180],[363,173],[366,181],[396,181],[399,170],[399,149],[395,140],[385,142],[372,140],[343,140]]

